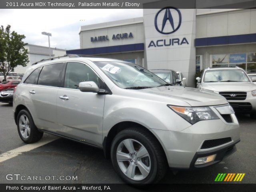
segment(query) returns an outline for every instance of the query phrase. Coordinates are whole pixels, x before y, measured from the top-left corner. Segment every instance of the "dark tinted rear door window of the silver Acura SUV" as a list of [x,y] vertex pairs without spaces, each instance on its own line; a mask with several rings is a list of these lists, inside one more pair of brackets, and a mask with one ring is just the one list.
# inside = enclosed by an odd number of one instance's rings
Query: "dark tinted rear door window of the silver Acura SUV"
[[61,86],[63,68],[64,63],[56,63],[44,66],[38,78],[38,85],[54,87]]

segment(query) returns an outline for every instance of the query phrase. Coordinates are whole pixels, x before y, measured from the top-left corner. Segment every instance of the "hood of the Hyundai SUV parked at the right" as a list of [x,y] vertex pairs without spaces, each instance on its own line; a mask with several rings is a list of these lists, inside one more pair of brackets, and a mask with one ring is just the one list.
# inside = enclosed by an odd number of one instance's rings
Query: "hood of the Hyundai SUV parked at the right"
[[204,83],[203,89],[212,90],[216,92],[222,91],[245,91],[249,92],[256,90],[256,85],[252,82],[217,82],[217,83]]

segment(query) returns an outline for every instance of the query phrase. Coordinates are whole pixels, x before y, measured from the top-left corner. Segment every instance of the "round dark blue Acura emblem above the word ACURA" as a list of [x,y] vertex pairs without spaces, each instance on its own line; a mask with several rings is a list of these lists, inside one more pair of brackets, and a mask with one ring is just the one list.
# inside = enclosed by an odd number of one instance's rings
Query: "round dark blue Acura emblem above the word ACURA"
[[[171,10],[174,10],[174,11],[178,12],[179,20],[173,20]],[[158,16],[161,12],[164,12],[164,11],[165,11],[165,13],[164,13],[164,18],[162,19],[162,28],[160,30],[158,28],[157,21],[161,20],[161,18],[158,18]],[[166,22],[171,26],[171,27],[168,28],[168,30],[164,30],[165,28],[167,28],[166,27]],[[174,26],[175,23],[178,23],[178,26],[175,27]],[[160,11],[158,11],[156,16],[155,16],[155,28],[158,32],[160,32],[162,34],[172,34],[172,33],[176,32],[180,28],[180,24],[181,24],[181,13],[180,13],[180,10],[178,10],[175,7],[163,8]]]

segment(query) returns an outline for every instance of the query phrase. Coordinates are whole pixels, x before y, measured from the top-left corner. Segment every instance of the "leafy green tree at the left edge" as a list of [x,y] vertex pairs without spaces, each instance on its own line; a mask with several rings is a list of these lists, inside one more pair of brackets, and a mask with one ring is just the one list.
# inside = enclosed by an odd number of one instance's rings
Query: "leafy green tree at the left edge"
[[11,26],[8,25],[0,28],[0,72],[6,76],[14,70],[18,65],[23,67],[28,63],[28,50],[24,48],[26,43],[22,40],[24,35],[20,35],[15,31],[10,31]]

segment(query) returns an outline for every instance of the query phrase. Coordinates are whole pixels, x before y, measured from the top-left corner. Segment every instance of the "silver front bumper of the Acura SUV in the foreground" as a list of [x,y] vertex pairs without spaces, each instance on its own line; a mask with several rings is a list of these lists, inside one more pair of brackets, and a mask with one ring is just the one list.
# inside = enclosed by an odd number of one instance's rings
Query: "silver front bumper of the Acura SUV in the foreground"
[[[162,144],[170,168],[199,168],[220,162],[240,141],[239,124],[234,114],[232,118],[233,123],[224,123],[222,119],[200,121],[181,132],[150,130]],[[231,137],[230,142],[212,148],[202,148],[206,140],[228,137]],[[194,166],[198,157],[207,156],[207,154],[217,154],[216,160]]]

